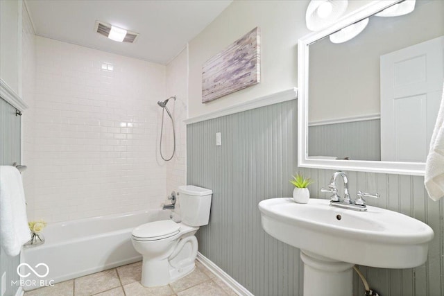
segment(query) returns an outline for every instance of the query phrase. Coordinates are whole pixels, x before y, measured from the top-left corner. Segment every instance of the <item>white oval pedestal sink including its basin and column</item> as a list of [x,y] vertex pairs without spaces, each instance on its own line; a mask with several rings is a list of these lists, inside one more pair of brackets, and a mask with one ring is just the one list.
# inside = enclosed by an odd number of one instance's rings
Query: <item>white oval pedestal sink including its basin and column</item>
[[352,267],[413,268],[427,260],[432,228],[395,211],[352,211],[330,200],[259,202],[265,232],[300,248],[304,295],[352,295]]

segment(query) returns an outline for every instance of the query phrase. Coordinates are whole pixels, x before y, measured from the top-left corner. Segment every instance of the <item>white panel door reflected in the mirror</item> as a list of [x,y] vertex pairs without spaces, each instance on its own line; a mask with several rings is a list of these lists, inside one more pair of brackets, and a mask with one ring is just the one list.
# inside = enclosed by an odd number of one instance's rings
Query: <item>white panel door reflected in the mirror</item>
[[444,36],[381,56],[382,161],[425,162],[443,92],[443,55]]

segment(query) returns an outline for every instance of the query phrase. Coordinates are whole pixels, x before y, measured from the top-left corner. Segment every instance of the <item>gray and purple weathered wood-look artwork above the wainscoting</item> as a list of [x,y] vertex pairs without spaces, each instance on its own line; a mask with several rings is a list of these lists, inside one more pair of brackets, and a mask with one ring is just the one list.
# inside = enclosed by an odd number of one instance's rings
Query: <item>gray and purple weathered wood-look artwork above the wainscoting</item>
[[202,103],[260,82],[260,29],[240,37],[202,67]]

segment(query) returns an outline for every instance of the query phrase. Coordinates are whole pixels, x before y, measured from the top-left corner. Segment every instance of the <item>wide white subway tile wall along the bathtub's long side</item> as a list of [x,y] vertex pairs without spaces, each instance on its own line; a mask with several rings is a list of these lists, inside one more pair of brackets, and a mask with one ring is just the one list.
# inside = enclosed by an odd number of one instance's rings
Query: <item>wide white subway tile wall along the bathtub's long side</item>
[[166,168],[156,102],[166,96],[166,67],[44,37],[35,46],[35,118],[26,124],[34,143],[24,150],[29,218],[160,207]]

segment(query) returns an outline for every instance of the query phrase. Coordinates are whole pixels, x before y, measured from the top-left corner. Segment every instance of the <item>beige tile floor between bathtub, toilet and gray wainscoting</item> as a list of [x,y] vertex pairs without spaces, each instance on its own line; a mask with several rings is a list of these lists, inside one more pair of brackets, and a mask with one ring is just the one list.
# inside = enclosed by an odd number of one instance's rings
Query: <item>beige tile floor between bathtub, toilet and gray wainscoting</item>
[[85,277],[63,281],[52,287],[26,292],[24,296],[235,296],[234,291],[196,261],[196,269],[186,277],[155,288],[140,284],[142,262],[123,265]]

